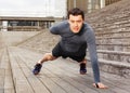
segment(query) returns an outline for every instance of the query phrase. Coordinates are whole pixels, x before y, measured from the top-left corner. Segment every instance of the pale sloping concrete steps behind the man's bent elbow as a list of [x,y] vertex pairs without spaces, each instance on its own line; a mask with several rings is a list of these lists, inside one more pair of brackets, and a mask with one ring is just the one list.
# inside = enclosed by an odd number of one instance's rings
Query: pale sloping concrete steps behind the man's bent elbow
[[51,52],[52,48],[58,41],[58,36],[50,34],[49,29],[44,29],[26,41],[18,43],[21,48],[29,49],[40,53]]

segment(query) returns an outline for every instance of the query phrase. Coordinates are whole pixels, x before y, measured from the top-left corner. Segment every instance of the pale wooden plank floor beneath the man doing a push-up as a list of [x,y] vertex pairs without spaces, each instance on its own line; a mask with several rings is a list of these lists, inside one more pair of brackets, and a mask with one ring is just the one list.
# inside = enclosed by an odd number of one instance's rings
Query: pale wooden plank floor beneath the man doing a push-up
[[101,80],[109,88],[92,87],[93,74],[79,75],[79,64],[58,58],[44,63],[40,75],[31,70],[43,54],[10,46],[0,50],[0,93],[129,93],[130,79],[101,71]]

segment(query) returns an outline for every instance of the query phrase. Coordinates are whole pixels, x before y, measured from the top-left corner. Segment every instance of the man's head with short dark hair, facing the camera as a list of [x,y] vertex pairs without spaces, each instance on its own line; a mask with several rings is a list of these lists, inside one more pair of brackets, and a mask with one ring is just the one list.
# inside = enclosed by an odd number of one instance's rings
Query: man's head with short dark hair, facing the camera
[[68,23],[70,25],[70,30],[78,34],[84,22],[84,13],[78,8],[68,11],[67,14]]

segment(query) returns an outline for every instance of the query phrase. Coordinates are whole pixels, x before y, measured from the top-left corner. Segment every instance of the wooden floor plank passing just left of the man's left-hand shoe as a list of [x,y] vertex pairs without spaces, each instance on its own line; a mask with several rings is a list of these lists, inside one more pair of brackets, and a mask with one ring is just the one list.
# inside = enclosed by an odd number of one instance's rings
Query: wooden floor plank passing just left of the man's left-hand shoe
[[[14,50],[16,53],[17,50]],[[23,59],[23,55],[21,55],[21,51],[17,51],[18,54],[15,57],[21,70],[25,75],[28,83],[31,85],[35,93],[41,93],[43,91],[44,93],[50,93],[49,90],[43,85],[43,83],[31,74],[30,68],[27,66],[27,57]],[[28,59],[29,61],[29,59]]]

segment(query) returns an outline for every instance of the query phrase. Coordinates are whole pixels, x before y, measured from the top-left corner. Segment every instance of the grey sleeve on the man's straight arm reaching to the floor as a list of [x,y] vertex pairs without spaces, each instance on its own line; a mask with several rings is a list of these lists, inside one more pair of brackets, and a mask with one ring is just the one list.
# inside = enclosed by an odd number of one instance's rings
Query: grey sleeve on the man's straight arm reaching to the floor
[[88,44],[88,51],[89,51],[90,61],[93,69],[94,81],[100,82],[100,70],[99,70],[95,36],[91,27],[88,28],[87,36],[88,36],[87,44]]

